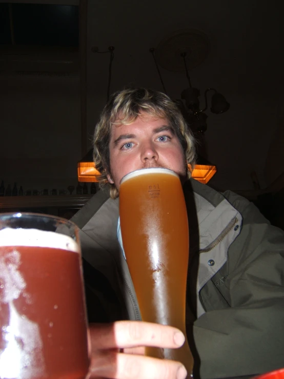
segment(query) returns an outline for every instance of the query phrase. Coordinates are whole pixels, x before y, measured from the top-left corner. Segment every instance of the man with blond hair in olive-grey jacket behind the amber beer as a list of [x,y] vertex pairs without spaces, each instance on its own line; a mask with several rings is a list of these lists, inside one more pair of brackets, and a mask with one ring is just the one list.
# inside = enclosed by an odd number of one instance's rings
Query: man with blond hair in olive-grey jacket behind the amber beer
[[140,320],[118,226],[119,183],[136,169],[165,167],[180,176],[188,207],[195,371],[199,359],[202,379],[283,367],[284,233],[245,198],[187,180],[194,144],[177,106],[151,90],[115,93],[95,129],[94,162],[108,189],[73,218],[82,230],[89,320]]

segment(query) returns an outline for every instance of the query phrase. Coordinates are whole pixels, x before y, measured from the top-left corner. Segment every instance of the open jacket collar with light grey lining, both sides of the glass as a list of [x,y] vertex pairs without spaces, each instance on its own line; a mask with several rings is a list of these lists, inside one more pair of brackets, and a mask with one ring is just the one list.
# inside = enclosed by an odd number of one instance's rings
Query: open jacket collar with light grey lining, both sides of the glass
[[[191,248],[204,250],[236,216],[236,209],[224,195],[213,188],[190,179],[184,185],[188,210]],[[99,191],[72,218],[84,233],[110,253],[119,250],[117,222],[119,200],[109,198],[108,192]],[[239,220],[241,216],[238,216]],[[199,241],[193,236],[199,235]]]

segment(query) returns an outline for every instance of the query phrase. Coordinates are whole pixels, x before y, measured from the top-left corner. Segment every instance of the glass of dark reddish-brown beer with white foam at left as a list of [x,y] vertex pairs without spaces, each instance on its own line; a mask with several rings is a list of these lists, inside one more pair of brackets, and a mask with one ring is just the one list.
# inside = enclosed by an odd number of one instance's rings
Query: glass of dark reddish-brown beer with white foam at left
[[88,337],[75,224],[0,215],[0,377],[83,379]]

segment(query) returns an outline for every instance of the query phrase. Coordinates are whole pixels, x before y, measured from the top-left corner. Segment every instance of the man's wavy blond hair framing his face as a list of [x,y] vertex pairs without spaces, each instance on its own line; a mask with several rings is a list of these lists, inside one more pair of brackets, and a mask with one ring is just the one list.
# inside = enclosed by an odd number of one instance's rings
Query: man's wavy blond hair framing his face
[[[142,114],[168,119],[185,152],[188,164],[194,167],[194,137],[175,102],[165,93],[145,88],[129,88],[115,92],[100,114],[93,138],[93,159],[100,173],[97,179],[100,187],[110,187],[111,198],[118,196],[115,185],[107,179],[111,172],[109,143],[112,126],[129,125]],[[190,176],[189,171],[188,175]]]

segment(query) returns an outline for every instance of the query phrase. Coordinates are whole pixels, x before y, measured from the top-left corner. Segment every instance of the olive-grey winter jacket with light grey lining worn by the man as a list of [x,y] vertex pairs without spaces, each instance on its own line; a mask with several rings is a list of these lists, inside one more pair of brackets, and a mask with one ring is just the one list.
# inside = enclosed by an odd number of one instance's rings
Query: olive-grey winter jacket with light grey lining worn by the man
[[[284,232],[233,192],[191,179],[184,193],[187,333],[195,372],[214,379],[284,367]],[[72,220],[80,228],[89,321],[139,320],[117,241],[118,199],[99,191]]]

